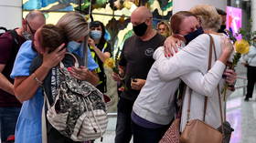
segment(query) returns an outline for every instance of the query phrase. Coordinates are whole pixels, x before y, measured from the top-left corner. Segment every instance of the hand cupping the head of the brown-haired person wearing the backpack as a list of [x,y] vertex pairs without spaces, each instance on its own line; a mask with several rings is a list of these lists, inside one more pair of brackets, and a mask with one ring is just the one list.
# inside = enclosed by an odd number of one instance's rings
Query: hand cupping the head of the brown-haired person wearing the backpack
[[48,50],[43,55],[42,66],[51,69],[54,66],[59,65],[59,62],[64,58],[66,53],[65,44],[60,45],[57,49],[48,53]]

